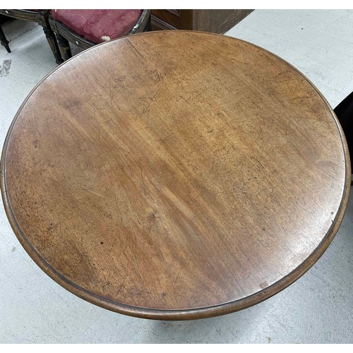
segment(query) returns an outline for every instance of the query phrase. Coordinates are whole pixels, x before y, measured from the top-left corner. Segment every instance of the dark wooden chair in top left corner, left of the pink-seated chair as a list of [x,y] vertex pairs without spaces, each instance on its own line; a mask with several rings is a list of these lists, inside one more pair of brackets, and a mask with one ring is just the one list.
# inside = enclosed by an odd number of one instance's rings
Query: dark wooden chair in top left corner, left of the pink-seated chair
[[49,10],[0,10],[0,14],[11,18],[16,18],[18,20],[28,20],[40,24],[44,30],[45,37],[47,37],[50,49],[52,49],[56,64],[61,64],[64,61],[61,58],[61,54],[55,39],[54,32],[52,31],[49,25]]

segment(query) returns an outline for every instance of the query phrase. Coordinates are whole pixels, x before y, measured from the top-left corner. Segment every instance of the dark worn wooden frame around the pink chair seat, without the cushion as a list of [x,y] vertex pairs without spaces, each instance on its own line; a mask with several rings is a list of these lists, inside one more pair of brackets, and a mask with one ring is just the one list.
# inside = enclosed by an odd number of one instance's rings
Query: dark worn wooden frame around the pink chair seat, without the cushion
[[[68,28],[63,23],[60,23],[58,20],[54,20],[52,16],[49,16],[49,23],[52,30],[54,30],[56,34],[56,39],[59,43],[61,55],[64,60],[70,59],[72,56],[70,42],[78,45],[78,47],[81,47],[83,49],[88,49],[90,47],[93,47],[94,45],[97,45],[97,43],[91,42],[85,37],[73,32],[73,30]],[[145,30],[149,30],[149,28],[150,10],[143,10],[140,15],[140,18],[138,18],[136,25],[131,28],[128,34],[133,35],[135,33],[144,32]]]

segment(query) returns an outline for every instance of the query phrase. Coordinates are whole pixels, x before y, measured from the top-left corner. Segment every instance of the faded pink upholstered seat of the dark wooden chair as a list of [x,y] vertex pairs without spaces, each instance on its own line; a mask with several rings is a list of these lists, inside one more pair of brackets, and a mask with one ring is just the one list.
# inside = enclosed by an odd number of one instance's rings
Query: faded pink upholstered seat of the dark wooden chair
[[112,40],[128,32],[142,10],[52,10],[50,14],[78,35],[94,43]]

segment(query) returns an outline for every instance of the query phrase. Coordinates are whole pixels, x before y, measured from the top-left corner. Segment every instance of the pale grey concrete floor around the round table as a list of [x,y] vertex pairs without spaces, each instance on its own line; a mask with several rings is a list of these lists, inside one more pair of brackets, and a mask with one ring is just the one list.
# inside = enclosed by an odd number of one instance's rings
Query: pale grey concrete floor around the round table
[[[3,26],[0,143],[30,90],[56,67],[42,28]],[[335,107],[353,90],[353,11],[251,13],[227,35],[299,68]],[[74,52],[78,52],[74,48]],[[353,343],[353,200],[333,243],[284,291],[244,311],[198,321],[149,321],[101,309],[60,287],[30,259],[0,206],[0,343]]]

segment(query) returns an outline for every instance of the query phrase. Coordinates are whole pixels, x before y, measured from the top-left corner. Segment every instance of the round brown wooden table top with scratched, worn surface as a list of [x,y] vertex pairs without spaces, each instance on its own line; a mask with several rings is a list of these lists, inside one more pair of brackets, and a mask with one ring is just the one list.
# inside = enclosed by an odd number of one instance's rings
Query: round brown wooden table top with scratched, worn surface
[[280,292],[347,207],[342,130],[299,71],[253,44],[148,32],[92,47],[32,90],[4,145],[20,243],[85,300],[205,318]]

